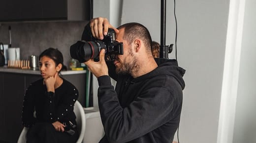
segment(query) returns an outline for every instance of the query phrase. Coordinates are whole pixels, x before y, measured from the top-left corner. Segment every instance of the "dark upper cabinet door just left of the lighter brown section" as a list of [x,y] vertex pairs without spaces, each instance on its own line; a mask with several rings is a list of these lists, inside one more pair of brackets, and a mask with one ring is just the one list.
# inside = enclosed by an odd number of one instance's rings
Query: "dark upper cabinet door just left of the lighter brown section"
[[42,18],[67,19],[67,0],[42,0]]

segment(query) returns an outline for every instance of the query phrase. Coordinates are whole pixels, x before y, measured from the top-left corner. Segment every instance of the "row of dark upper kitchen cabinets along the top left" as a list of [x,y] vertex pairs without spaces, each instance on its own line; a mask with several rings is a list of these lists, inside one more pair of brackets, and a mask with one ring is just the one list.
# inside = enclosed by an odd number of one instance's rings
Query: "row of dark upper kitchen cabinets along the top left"
[[90,0],[0,0],[0,22],[89,20]]

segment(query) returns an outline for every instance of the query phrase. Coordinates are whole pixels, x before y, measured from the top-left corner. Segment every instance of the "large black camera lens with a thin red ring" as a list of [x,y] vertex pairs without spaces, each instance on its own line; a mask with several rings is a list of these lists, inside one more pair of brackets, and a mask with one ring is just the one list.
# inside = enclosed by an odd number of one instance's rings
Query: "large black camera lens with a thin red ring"
[[83,63],[97,58],[102,48],[106,48],[102,41],[77,41],[70,47],[70,55],[73,59],[78,60],[79,63]]

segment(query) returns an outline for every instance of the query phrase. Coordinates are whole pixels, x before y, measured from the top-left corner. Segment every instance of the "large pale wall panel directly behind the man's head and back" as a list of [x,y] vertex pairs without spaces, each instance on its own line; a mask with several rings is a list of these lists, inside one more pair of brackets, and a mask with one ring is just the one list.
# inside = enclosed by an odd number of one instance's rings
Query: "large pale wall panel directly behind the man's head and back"
[[[217,143],[228,7],[228,0],[176,0],[178,62],[187,70],[181,143]],[[166,9],[168,45],[175,41],[173,0],[167,0]],[[160,41],[160,1],[125,0],[122,24],[132,21]]]

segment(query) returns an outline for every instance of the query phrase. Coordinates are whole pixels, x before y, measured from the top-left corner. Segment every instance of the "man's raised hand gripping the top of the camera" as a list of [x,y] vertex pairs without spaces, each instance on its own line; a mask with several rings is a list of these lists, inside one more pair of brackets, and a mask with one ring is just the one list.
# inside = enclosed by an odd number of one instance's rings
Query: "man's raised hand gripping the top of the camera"
[[103,34],[107,35],[108,28],[114,29],[116,33],[119,32],[117,28],[109,24],[106,18],[102,18],[102,17],[92,19],[90,22],[90,27],[91,27],[93,36],[100,40],[103,40],[104,38]]

